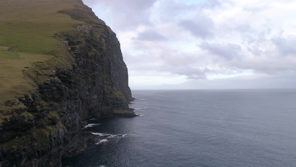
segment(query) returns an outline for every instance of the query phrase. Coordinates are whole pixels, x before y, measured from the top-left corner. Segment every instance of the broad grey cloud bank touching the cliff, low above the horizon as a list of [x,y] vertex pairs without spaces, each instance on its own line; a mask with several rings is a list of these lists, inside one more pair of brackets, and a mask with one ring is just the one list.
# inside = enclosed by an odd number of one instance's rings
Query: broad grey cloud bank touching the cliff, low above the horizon
[[[170,48],[161,48],[159,53],[145,52],[137,56],[129,55],[126,59],[128,68],[132,71],[154,70],[185,75],[188,79],[205,79],[208,68],[200,68],[196,64],[200,59],[191,53],[184,53]],[[128,53],[124,53],[128,55]]]

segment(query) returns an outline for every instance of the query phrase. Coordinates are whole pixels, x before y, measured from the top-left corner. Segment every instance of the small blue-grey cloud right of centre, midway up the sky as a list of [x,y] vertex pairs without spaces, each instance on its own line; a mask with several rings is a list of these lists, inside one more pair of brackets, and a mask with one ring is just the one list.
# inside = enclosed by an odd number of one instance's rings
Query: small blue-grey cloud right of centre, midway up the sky
[[208,43],[202,42],[199,45],[200,48],[207,50],[209,53],[221,56],[225,59],[231,60],[241,55],[241,47],[236,44],[226,43]]

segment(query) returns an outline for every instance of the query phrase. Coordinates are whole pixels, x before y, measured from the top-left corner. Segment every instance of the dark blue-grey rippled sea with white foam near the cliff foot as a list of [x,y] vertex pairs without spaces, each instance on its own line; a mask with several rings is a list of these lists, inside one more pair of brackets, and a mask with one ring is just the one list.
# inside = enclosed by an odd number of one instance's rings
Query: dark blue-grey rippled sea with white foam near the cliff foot
[[[296,166],[296,90],[133,91],[68,166]],[[96,134],[96,135],[95,135]]]

